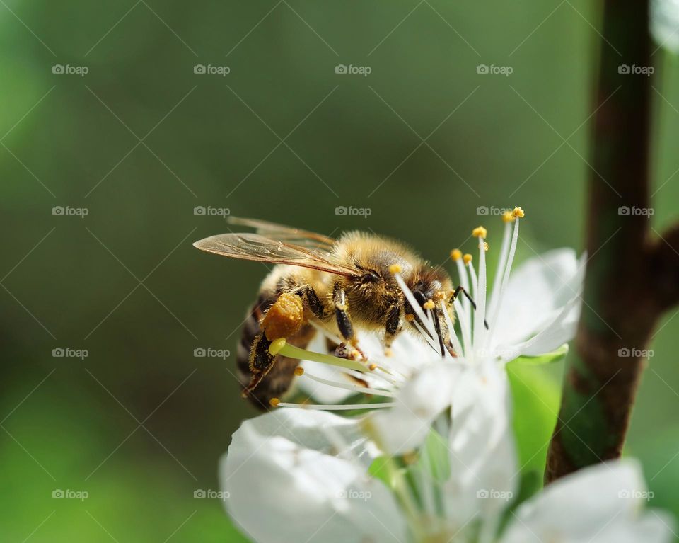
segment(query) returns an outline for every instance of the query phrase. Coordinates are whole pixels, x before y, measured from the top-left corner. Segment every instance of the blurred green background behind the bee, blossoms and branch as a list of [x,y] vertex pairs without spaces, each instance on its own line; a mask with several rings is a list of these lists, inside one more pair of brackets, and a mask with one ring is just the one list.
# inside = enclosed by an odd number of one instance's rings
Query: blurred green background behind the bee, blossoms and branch
[[[243,540],[219,498],[195,498],[219,491],[219,456],[255,414],[233,356],[193,354],[235,352],[267,271],[191,246],[227,231],[220,210],[372,229],[442,262],[480,222],[497,243],[478,207],[522,205],[520,260],[581,251],[598,17],[584,0],[0,0],[1,539]],[[679,88],[675,60],[653,58],[660,229],[679,198]],[[679,513],[673,316],[627,448],[651,505]],[[526,377],[554,408],[561,370]]]

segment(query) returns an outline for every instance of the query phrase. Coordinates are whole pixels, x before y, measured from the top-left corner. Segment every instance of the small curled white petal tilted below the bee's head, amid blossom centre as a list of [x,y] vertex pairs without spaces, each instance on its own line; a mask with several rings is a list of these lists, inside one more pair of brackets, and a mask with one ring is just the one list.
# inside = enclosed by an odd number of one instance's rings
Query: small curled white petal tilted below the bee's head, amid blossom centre
[[458,368],[443,362],[426,365],[403,387],[392,408],[371,413],[381,446],[392,455],[417,449],[441,411],[451,405]]

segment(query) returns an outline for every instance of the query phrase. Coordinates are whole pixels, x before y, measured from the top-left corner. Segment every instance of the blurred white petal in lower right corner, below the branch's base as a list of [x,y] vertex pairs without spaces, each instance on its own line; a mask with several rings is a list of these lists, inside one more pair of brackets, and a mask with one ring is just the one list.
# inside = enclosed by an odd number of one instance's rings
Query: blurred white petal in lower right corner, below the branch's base
[[581,469],[523,503],[501,543],[669,541],[666,520],[640,514],[649,496],[632,460]]

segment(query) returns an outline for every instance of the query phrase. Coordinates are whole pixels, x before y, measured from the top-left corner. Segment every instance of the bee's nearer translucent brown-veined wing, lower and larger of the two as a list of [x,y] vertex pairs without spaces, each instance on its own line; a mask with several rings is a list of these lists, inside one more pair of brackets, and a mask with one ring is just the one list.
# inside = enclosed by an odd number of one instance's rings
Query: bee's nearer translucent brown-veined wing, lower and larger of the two
[[337,275],[360,275],[359,270],[337,261],[323,248],[310,248],[260,236],[260,234],[219,234],[196,241],[193,246],[231,258],[248,261],[291,264]]

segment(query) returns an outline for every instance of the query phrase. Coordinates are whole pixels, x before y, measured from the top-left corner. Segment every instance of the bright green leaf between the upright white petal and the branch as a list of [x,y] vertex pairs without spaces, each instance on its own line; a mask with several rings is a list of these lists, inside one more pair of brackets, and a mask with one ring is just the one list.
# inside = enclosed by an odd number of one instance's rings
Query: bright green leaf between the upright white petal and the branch
[[521,473],[545,469],[547,447],[559,412],[561,391],[542,367],[506,366],[513,401],[513,430]]

